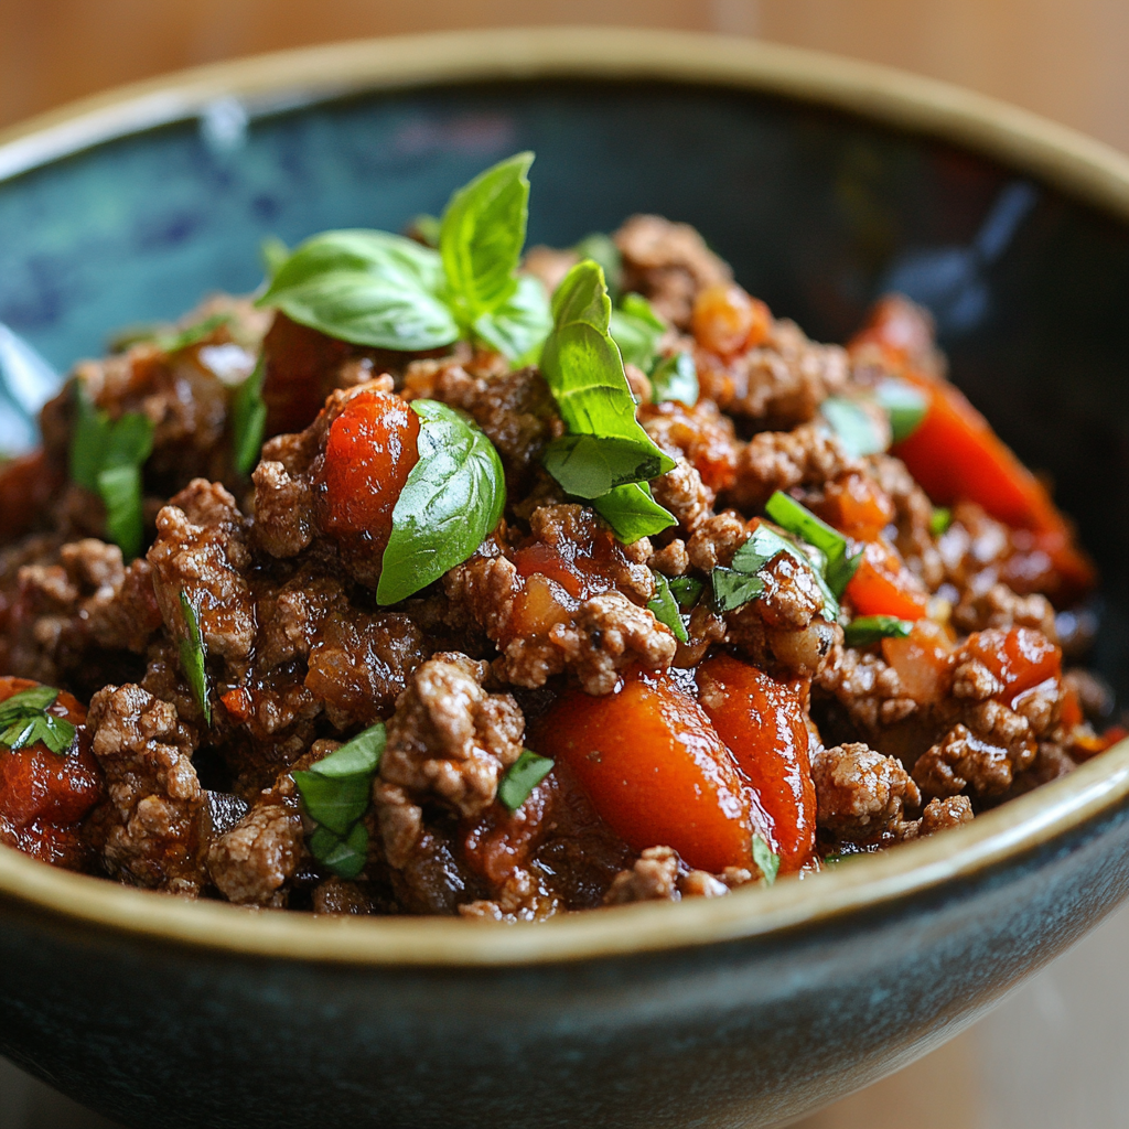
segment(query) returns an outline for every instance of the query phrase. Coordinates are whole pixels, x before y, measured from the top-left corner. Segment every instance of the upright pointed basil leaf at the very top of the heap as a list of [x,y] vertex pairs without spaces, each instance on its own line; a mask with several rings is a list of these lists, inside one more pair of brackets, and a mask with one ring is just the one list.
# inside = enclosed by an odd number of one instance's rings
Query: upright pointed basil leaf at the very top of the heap
[[450,198],[439,225],[447,287],[466,325],[491,313],[515,289],[525,245],[532,152],[519,152],[480,173]]

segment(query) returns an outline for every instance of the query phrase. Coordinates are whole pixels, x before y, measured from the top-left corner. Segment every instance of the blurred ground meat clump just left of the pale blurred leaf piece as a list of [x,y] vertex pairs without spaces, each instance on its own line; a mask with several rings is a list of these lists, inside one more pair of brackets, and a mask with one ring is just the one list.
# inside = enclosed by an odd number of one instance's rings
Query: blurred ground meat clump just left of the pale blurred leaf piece
[[743,509],[759,510],[777,490],[822,484],[863,470],[826,428],[805,425],[795,431],[761,431],[737,456],[728,497]]

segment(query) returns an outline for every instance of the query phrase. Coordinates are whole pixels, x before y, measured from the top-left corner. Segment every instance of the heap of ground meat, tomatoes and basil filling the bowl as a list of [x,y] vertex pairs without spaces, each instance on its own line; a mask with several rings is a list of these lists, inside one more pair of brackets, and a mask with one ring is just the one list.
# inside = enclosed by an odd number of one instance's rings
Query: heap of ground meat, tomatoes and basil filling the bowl
[[1056,625],[1093,567],[924,310],[817,344],[656,216],[523,260],[531,160],[268,248],[46,406],[0,478],[5,842],[537,920],[802,877],[1121,735]]

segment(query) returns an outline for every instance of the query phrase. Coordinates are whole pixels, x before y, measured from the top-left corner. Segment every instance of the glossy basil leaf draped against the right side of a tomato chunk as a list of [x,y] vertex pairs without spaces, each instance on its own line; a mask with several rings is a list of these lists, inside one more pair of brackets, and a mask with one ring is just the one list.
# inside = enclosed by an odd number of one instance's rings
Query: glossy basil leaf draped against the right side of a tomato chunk
[[469,417],[436,400],[413,400],[419,462],[392,511],[376,598],[401,599],[462,564],[491,534],[506,506],[493,444]]

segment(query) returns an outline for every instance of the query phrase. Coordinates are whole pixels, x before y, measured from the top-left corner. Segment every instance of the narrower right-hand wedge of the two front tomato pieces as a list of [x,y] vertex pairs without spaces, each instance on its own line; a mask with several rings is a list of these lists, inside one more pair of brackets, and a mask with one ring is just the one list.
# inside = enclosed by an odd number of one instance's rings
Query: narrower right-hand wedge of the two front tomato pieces
[[[754,830],[798,870],[815,842],[815,785],[804,707],[796,691],[728,655],[698,668],[700,701],[718,736],[749,778]],[[759,811],[767,825],[756,826]]]

